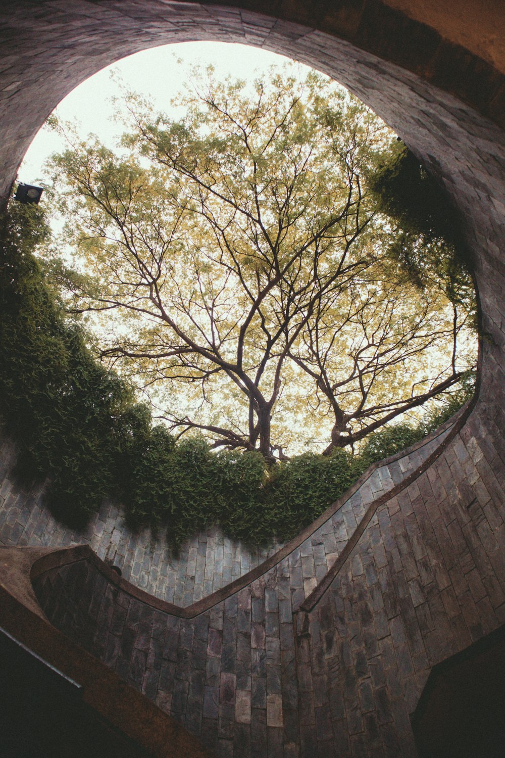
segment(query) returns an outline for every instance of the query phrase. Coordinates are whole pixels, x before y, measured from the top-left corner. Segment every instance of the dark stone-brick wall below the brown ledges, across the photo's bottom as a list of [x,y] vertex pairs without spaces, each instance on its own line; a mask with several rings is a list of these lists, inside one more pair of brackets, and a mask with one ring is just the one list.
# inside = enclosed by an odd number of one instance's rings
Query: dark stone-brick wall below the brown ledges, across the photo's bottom
[[378,506],[315,601],[310,543],[193,618],[82,559],[40,575],[36,595],[220,756],[415,756],[432,666],[505,622],[503,491],[472,431]]

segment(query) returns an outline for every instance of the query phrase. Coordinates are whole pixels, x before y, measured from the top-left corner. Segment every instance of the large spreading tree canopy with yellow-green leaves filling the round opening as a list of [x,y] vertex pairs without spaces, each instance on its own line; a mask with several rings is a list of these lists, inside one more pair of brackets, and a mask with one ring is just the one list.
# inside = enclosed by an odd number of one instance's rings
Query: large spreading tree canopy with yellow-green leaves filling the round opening
[[[272,459],[288,437],[273,422],[308,402],[334,419],[329,452],[456,384],[466,312],[402,280],[366,189],[394,140],[384,124],[288,68],[252,88],[207,72],[183,105],[173,121],[129,96],[120,152],[74,137],[52,159],[89,274],[73,309],[108,315],[101,356],[170,428]],[[447,340],[426,371],[422,350]]]

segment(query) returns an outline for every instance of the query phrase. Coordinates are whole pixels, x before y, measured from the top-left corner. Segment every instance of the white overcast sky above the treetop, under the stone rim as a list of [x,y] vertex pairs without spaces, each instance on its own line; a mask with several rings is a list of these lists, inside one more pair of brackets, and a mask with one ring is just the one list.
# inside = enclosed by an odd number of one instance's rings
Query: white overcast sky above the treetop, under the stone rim
[[[170,112],[170,99],[179,92],[196,63],[213,64],[217,77],[231,74],[248,80],[286,60],[282,55],[249,45],[224,42],[164,45],[129,55],[102,69],[73,89],[58,105],[57,112],[64,121],[79,122],[79,134],[83,137],[89,133],[98,134],[112,147],[124,127],[111,121],[114,115],[111,98],[118,93],[117,85],[111,80],[111,71],[119,74],[128,89],[151,96],[158,110]],[[301,69],[306,67],[301,65]],[[42,128],[26,152],[18,179],[27,184],[44,181],[44,161],[51,152],[58,152],[63,147],[55,133]]]

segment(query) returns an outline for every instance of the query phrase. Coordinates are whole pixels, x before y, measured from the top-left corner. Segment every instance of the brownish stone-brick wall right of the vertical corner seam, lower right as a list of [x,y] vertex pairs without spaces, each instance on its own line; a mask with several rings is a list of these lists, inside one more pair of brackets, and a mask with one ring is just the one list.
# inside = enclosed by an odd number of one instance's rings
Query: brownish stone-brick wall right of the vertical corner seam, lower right
[[432,666],[505,622],[503,490],[474,434],[379,509],[307,616],[298,677],[320,754],[415,756]]

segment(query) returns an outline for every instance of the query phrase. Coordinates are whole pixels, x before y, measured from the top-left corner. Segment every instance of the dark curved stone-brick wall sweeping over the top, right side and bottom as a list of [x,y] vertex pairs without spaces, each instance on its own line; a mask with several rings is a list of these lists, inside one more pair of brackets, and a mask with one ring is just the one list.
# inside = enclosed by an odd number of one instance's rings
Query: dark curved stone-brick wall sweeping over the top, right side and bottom
[[37,593],[55,625],[223,758],[415,756],[409,716],[432,667],[505,622],[505,59],[490,33],[500,37],[503,11],[480,0],[239,5],[4,2],[3,192],[58,100],[123,55],[223,39],[314,64],[402,136],[460,211],[482,304],[479,400],[428,468],[369,514],[295,618],[291,593],[313,560],[302,545],[194,618],[91,557],[42,572]]

